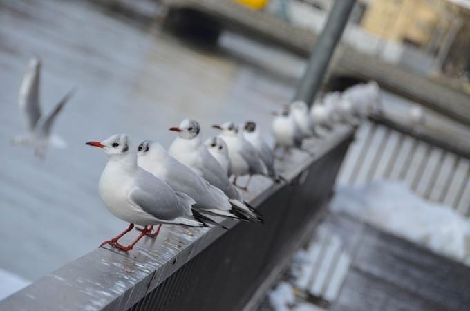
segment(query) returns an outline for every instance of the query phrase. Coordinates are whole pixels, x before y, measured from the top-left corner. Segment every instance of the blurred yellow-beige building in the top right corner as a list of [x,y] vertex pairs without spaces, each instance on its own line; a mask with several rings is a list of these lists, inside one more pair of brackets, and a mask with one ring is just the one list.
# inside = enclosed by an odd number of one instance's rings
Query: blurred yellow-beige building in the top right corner
[[422,51],[433,57],[435,69],[447,68],[444,72],[450,75],[457,75],[451,73],[453,68],[460,68],[461,73],[469,66],[470,1],[370,0],[361,3],[364,30]]

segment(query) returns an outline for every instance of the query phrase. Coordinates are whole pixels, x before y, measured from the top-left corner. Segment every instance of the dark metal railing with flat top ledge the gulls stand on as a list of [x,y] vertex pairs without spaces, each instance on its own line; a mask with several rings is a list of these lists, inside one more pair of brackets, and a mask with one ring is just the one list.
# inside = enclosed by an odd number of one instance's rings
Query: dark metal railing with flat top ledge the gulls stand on
[[228,231],[165,227],[156,240],[146,239],[129,253],[99,248],[0,301],[0,310],[207,311],[256,305],[276,267],[310,238],[352,140],[352,129],[340,126],[315,142],[313,158],[294,153],[276,162],[294,185],[256,178],[245,199],[261,211],[265,225],[224,220]]

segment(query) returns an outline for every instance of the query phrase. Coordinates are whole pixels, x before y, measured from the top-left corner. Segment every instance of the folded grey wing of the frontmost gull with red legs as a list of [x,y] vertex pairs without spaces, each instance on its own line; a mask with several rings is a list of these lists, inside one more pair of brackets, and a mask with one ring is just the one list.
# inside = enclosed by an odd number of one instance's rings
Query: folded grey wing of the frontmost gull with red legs
[[129,200],[161,220],[173,220],[191,211],[191,205],[180,200],[167,183],[144,169],[138,170]]

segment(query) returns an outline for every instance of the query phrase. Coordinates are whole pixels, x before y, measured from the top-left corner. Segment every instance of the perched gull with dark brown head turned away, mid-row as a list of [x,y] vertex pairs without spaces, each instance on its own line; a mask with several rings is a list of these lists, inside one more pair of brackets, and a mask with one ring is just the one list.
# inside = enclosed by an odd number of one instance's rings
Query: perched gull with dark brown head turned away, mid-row
[[274,180],[287,181],[281,175],[276,173],[276,169],[274,169],[274,151],[267,146],[267,143],[261,137],[259,127],[256,126],[255,122],[245,122],[245,125],[243,126],[243,136],[245,137],[245,140],[250,142],[254,149],[258,151],[258,154],[267,169],[267,176]]

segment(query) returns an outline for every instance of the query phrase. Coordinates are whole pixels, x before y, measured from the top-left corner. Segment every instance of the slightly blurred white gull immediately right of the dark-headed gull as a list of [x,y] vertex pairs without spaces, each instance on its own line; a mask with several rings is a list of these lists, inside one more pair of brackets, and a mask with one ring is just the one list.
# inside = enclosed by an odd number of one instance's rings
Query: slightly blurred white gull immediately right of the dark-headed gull
[[283,109],[281,113],[273,112],[273,115],[275,117],[272,120],[272,133],[274,140],[276,140],[274,151],[279,147],[283,147],[284,154],[286,154],[291,148],[296,148],[312,156],[308,150],[302,148],[303,134],[289,109]]

